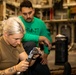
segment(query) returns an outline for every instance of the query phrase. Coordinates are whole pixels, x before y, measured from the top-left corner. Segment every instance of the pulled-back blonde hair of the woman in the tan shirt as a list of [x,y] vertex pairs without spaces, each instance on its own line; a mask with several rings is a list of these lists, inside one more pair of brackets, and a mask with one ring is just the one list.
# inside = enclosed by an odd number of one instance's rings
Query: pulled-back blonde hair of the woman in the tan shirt
[[9,35],[17,33],[25,33],[25,27],[18,17],[11,17],[5,21],[3,24],[3,33],[8,33]]

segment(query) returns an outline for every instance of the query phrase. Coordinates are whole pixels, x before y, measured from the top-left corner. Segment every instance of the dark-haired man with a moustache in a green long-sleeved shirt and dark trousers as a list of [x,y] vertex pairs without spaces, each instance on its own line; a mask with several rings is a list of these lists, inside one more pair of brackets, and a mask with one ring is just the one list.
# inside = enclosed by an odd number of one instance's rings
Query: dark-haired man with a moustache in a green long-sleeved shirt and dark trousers
[[23,37],[23,46],[26,52],[29,53],[34,46],[41,46],[44,51],[43,55],[39,57],[36,63],[29,68],[29,75],[50,75],[47,66],[47,57],[50,53],[52,39],[50,32],[47,31],[45,23],[34,17],[34,8],[29,0],[25,0],[20,4],[21,16],[19,19],[23,22],[26,28],[26,34]]

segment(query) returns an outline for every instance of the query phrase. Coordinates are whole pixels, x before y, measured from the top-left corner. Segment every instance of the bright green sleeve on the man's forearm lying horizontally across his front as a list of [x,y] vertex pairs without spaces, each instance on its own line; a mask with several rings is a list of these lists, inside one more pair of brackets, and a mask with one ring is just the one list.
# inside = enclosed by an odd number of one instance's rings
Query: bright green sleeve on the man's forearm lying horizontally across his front
[[22,38],[22,41],[39,41],[39,36],[38,35],[32,35],[29,33],[24,34],[24,37]]

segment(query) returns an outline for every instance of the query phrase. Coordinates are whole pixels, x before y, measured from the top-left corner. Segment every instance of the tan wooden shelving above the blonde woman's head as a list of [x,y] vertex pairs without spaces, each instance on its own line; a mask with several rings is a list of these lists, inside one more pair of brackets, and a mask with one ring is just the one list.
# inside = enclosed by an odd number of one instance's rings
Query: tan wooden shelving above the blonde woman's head
[[19,5],[23,0],[3,0],[3,20],[11,16],[17,16]]

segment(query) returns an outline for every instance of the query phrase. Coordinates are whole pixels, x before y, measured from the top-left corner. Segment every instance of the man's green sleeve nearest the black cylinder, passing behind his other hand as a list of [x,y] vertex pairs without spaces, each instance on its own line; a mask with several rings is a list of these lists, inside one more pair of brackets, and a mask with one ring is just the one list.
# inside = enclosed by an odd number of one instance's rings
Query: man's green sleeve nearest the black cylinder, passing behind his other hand
[[[52,43],[52,37],[51,37],[51,33],[48,31],[46,24],[44,22],[41,23],[42,25],[42,29],[41,29],[41,36],[45,36],[46,38],[48,38],[50,40],[50,42]],[[48,47],[46,45],[44,45],[44,53],[49,54],[50,50],[48,50]]]

